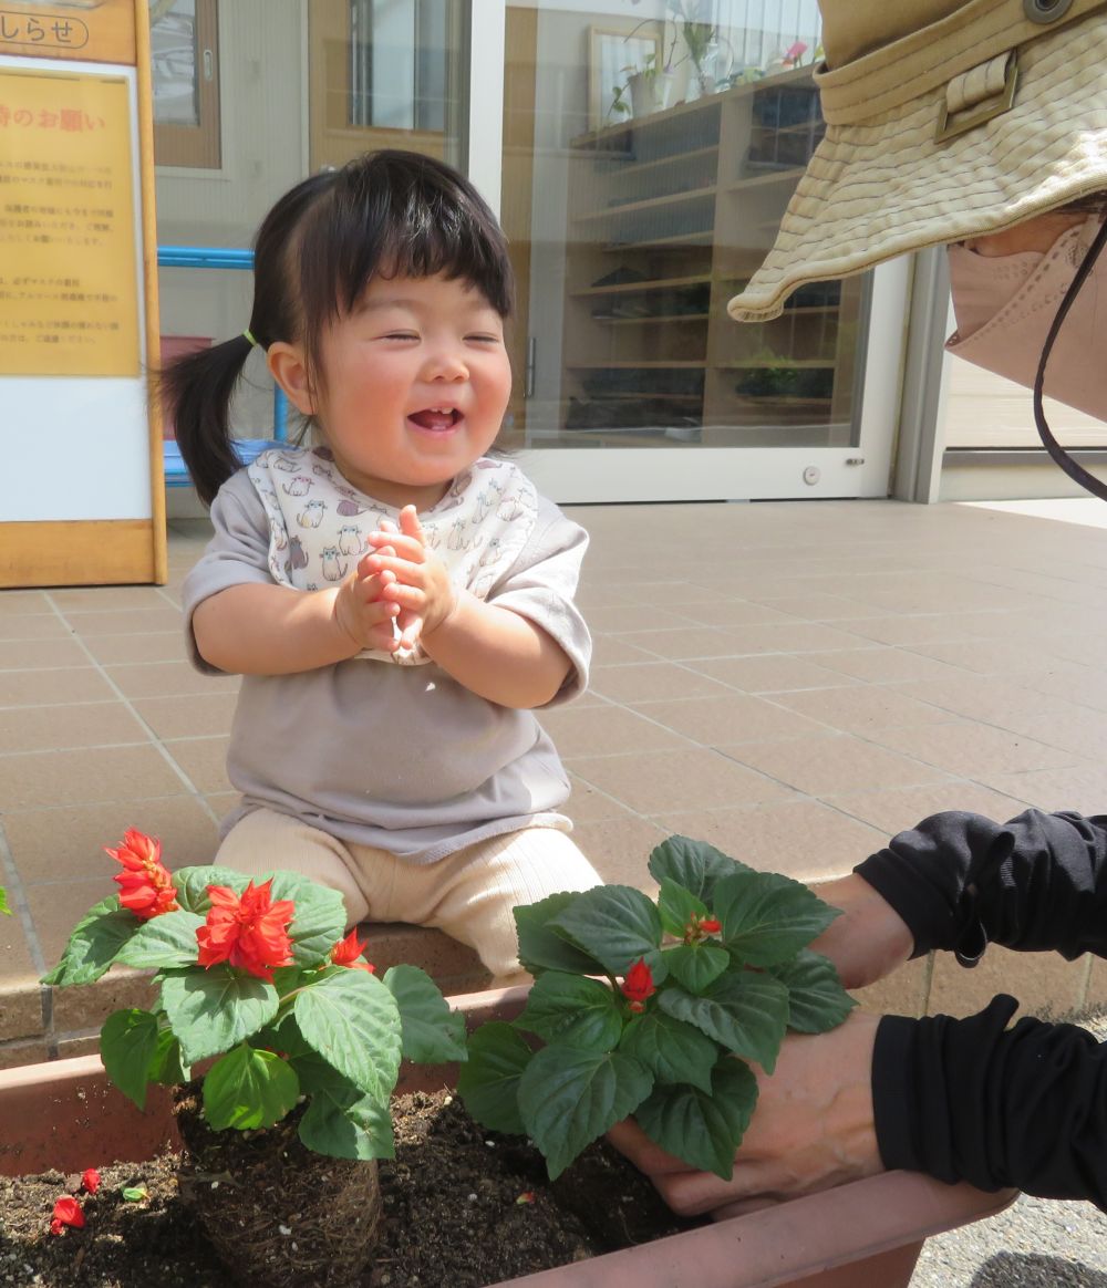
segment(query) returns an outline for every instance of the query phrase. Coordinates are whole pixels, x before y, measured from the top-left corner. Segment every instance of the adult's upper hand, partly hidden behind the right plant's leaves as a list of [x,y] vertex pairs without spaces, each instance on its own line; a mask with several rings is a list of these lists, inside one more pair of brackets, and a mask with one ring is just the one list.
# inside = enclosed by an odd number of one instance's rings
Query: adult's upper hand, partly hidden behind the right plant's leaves
[[842,916],[811,944],[811,951],[834,962],[845,988],[874,984],[914,952],[906,922],[856,872],[814,886],[814,893],[823,903],[840,908]]

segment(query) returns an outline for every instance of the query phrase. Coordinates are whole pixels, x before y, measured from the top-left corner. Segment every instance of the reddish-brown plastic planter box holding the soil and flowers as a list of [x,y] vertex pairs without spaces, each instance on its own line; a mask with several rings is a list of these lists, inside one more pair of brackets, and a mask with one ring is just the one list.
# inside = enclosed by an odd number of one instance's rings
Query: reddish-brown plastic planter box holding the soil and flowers
[[[469,1025],[512,1019],[526,989],[450,999]],[[401,1091],[442,1086],[450,1066],[405,1065]],[[77,1172],[97,1160],[142,1162],[175,1144],[169,1094],[146,1113],[107,1082],[99,1056],[0,1072],[0,1175]],[[923,1240],[992,1216],[1013,1190],[985,1194],[888,1172],[624,1252],[512,1279],[495,1288],[907,1288]]]

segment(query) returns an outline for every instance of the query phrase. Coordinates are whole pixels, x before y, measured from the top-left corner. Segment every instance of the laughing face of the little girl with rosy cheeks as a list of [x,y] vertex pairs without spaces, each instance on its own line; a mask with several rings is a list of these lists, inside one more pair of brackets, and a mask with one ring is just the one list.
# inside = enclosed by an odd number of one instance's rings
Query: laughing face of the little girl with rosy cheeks
[[397,507],[427,510],[445,496],[491,447],[512,390],[503,318],[442,276],[374,277],[323,334],[321,365],[311,410],[335,462]]

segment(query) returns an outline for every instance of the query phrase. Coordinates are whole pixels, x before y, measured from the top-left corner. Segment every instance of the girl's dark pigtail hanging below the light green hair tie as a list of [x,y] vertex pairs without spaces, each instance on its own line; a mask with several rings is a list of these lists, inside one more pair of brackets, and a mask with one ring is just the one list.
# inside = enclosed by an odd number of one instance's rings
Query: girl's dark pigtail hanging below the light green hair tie
[[205,505],[241,468],[231,442],[231,395],[253,344],[245,335],[175,358],[159,377],[159,397]]

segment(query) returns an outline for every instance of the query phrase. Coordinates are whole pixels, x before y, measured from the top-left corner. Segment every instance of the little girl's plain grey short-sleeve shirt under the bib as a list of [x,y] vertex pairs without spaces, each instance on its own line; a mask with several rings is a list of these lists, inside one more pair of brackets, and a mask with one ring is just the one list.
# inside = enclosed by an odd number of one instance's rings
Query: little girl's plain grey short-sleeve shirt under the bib
[[[202,600],[244,582],[272,585],[269,527],[245,470],[211,506],[215,535],[184,582],[192,614]],[[585,531],[545,498],[530,540],[487,595],[530,618],[571,661],[550,706],[584,690],[592,643],[573,603]],[[294,675],[242,676],[227,756],[245,814],[269,808],[345,841],[432,863],[490,836],[527,826],[570,828],[558,808],[568,778],[532,711],[501,707],[437,665],[365,658]]]

